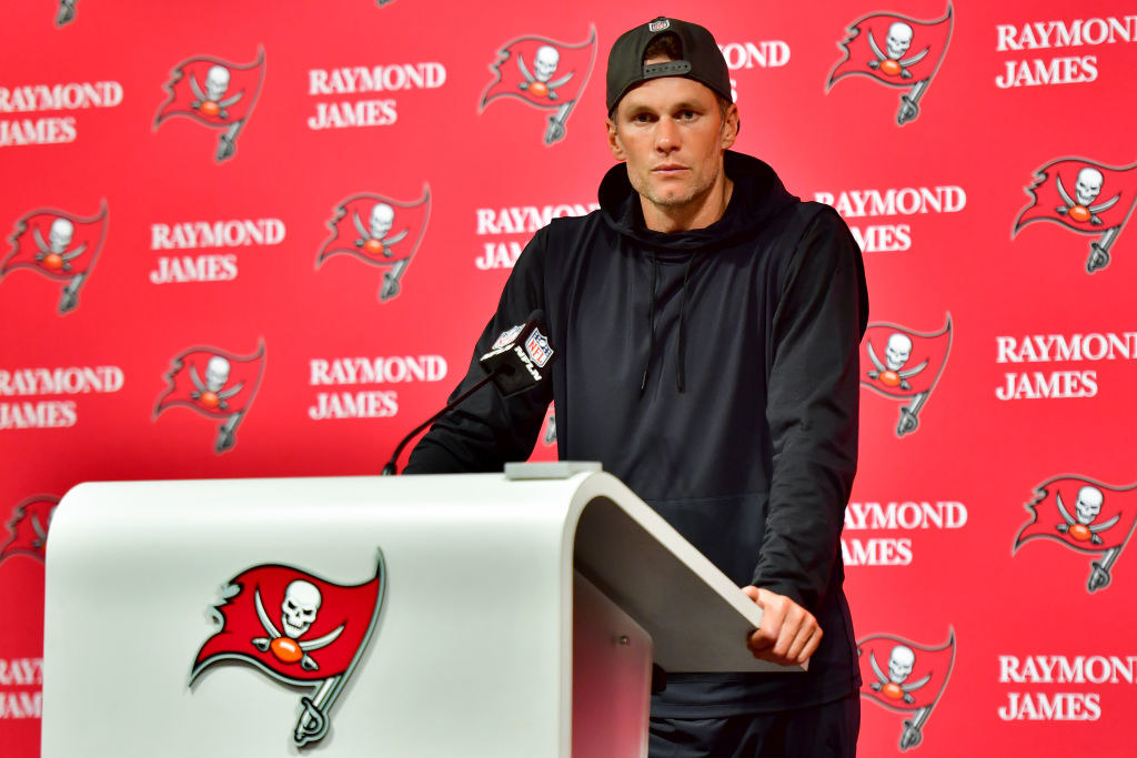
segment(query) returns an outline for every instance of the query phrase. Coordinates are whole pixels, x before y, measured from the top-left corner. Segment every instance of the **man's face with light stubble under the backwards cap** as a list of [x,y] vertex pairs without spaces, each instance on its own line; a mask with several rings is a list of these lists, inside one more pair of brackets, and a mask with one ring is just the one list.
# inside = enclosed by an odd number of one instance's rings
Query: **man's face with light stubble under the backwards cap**
[[731,105],[724,120],[709,88],[665,76],[625,94],[606,124],[608,147],[626,161],[632,188],[667,213],[697,203],[721,181],[722,151],[735,143],[738,110]]

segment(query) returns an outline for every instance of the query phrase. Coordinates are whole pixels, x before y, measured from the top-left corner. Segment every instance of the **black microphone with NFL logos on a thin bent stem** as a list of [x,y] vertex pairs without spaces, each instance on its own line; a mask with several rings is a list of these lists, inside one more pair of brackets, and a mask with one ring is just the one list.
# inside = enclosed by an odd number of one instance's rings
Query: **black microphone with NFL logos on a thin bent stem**
[[402,448],[407,447],[407,443],[416,434],[490,382],[493,383],[503,398],[521,394],[543,382],[548,376],[548,367],[551,366],[556,355],[547,333],[545,311],[538,309],[529,314],[524,324],[506,330],[498,335],[490,351],[478,359],[479,365],[485,370],[485,376],[402,438],[395,448],[391,459],[383,466],[382,476],[393,476],[399,473],[395,461],[399,459]]

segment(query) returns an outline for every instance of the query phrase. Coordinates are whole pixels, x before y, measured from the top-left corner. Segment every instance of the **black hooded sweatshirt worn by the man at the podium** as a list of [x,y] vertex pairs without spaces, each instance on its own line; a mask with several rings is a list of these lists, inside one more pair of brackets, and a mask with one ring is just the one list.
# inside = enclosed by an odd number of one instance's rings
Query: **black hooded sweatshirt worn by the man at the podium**
[[816,616],[824,636],[807,673],[672,674],[656,716],[782,710],[860,686],[840,532],[869,311],[861,251],[836,211],[789,194],[764,163],[728,151],[724,169],[733,193],[706,228],[647,230],[617,165],[599,210],[540,230],[455,394],[538,308],[559,351],[551,384],[511,400],[479,391],[406,468],[524,460],[555,400],[562,459],[601,461],[736,583]]

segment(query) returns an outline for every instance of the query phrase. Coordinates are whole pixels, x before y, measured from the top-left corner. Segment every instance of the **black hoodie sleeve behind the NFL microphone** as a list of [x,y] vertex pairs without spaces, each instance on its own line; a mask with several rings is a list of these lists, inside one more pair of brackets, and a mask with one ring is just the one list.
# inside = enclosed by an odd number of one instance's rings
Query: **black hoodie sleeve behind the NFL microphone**
[[[485,376],[478,359],[490,351],[498,335],[523,324],[533,310],[545,308],[545,230],[539,231],[517,258],[497,311],[478,339],[466,376],[450,393],[450,400]],[[434,422],[415,445],[404,473],[499,472],[506,461],[525,460],[551,400],[553,385],[548,381],[508,400],[487,384]]]

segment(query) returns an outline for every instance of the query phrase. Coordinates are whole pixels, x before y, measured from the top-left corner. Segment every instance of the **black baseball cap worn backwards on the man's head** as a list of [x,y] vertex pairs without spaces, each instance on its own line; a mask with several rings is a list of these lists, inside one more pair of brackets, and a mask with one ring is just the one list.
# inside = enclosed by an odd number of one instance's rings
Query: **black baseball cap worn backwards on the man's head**
[[[644,51],[661,34],[674,34],[679,38],[683,59],[645,66]],[[640,82],[659,76],[695,80],[724,97],[728,102],[735,101],[730,95],[727,59],[711,32],[698,24],[659,16],[624,32],[612,45],[612,52],[608,53],[608,115],[612,115],[629,90]]]

